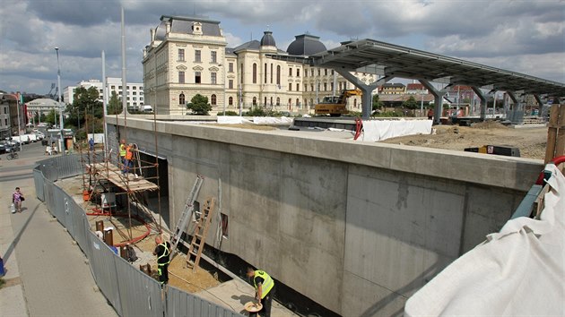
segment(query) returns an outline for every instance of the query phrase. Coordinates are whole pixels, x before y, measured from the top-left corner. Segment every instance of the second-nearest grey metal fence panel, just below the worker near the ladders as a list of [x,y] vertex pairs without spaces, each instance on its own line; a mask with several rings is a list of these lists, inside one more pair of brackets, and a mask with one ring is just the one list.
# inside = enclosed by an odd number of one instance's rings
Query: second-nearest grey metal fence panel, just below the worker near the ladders
[[161,284],[115,256],[123,316],[163,316]]

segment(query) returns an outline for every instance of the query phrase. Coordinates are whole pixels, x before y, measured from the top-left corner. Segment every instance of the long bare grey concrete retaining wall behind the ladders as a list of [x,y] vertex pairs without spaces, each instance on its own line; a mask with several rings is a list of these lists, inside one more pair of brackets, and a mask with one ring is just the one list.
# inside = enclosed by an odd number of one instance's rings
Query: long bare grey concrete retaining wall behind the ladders
[[[152,121],[118,124],[128,142],[152,152]],[[169,165],[170,226],[203,175],[199,200],[216,197],[229,218],[228,238],[218,239],[215,219],[208,244],[348,316],[402,312],[408,296],[510,218],[543,168],[315,133],[156,129]]]

